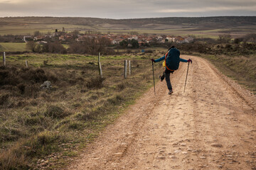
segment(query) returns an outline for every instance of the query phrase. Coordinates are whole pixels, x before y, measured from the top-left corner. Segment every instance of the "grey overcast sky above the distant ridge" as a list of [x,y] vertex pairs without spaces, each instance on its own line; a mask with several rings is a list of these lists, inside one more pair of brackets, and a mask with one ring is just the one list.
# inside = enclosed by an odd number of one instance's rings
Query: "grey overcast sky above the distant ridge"
[[256,16],[256,0],[0,0],[4,16]]

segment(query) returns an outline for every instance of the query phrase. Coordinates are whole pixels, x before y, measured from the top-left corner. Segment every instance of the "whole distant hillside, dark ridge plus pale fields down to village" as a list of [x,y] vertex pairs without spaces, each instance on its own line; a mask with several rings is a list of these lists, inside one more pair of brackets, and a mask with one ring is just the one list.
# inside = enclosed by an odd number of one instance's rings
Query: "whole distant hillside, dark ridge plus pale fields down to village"
[[[6,30],[9,26],[10,30]],[[29,30],[54,30],[65,26],[67,30],[134,30],[140,33],[153,33],[150,30],[166,30],[163,33],[185,33],[205,30],[218,30],[227,33],[255,33],[256,16],[216,16],[216,17],[167,17],[167,18],[82,18],[82,17],[5,17],[0,18],[0,35],[12,33],[26,33]],[[14,28],[15,27],[15,28]],[[224,30],[223,30],[224,29]],[[229,29],[229,30],[227,30]],[[230,30],[231,29],[231,30]],[[178,31],[175,31],[178,30]],[[158,31],[161,33],[161,31]]]

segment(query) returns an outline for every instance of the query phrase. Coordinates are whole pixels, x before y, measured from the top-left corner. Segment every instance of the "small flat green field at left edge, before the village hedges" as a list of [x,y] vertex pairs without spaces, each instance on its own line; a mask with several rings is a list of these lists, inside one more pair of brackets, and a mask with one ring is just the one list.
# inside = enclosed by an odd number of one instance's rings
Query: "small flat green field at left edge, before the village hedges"
[[0,52],[26,51],[26,42],[0,42]]

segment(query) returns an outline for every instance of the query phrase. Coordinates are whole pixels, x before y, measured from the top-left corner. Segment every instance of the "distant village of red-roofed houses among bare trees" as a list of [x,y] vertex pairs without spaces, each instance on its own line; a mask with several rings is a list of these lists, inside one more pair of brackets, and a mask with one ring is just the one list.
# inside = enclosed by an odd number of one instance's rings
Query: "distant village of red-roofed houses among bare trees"
[[[49,40],[60,40],[60,42],[67,43],[70,41],[82,42],[87,40],[87,38],[107,38],[110,40],[112,45],[119,45],[123,40],[137,40],[139,46],[144,46],[146,44],[164,44],[166,42],[176,42],[176,43],[189,43],[193,42],[193,37],[181,37],[174,35],[149,35],[149,34],[102,34],[102,33],[88,33],[82,34],[79,33],[67,33],[63,28],[62,31],[55,30],[55,33],[46,34],[46,35],[37,35],[37,36],[24,36],[23,40],[36,41],[38,44],[46,44]],[[129,46],[128,46],[129,47]]]

